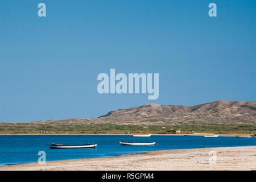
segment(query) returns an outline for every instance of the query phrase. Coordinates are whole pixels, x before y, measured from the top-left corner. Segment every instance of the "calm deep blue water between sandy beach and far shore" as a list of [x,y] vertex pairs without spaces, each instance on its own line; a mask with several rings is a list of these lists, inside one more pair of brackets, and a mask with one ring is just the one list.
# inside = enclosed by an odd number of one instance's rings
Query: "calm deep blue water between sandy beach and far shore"
[[[127,142],[156,142],[155,146],[121,146]],[[96,149],[50,149],[47,143],[85,144],[97,143]],[[203,136],[132,137],[131,135],[0,135],[0,166],[38,161],[38,152],[46,152],[46,161],[101,158],[126,155],[131,152],[170,150],[182,148],[256,146],[256,138]]]

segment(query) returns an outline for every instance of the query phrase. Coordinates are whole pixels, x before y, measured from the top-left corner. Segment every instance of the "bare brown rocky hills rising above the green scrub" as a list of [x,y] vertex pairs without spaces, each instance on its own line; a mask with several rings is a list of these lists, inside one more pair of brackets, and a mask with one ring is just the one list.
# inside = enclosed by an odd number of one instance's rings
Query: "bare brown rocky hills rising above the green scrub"
[[112,123],[117,125],[256,124],[256,101],[215,101],[196,106],[147,104],[110,111],[95,119],[65,119],[45,122]]

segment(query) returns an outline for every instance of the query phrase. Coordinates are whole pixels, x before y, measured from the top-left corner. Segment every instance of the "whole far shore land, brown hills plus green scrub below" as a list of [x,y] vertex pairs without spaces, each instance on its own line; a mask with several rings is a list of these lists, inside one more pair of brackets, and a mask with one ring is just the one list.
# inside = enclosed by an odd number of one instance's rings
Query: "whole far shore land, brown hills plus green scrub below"
[[0,123],[0,134],[122,133],[128,130],[158,133],[163,131],[162,128],[165,128],[164,132],[179,128],[199,132],[255,133],[256,101],[215,101],[196,106],[147,104],[113,110],[93,119]]

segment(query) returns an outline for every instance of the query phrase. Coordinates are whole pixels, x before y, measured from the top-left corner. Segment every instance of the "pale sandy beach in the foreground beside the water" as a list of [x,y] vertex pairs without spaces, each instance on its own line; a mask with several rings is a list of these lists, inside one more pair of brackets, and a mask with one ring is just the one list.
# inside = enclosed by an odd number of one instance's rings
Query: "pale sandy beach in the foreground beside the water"
[[256,170],[256,146],[154,151],[111,158],[18,164],[2,166],[0,170]]

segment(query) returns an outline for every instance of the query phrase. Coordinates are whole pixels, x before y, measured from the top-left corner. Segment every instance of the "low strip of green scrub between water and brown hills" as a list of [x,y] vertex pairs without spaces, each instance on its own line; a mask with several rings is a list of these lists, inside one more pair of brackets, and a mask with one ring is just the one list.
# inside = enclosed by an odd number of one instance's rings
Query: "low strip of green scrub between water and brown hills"
[[175,130],[181,133],[216,133],[216,134],[249,134],[256,132],[255,125],[116,125],[116,124],[88,124],[88,123],[0,123],[0,134],[121,134],[152,133],[170,134]]

